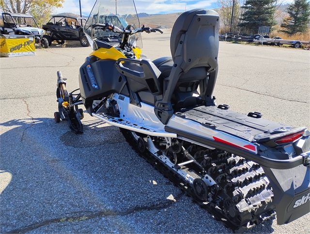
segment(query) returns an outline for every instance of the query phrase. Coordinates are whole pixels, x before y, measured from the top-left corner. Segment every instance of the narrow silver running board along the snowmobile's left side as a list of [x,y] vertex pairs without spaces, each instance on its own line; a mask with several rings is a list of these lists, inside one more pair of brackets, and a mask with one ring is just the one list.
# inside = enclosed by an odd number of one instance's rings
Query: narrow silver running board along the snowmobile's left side
[[120,117],[109,117],[105,114],[95,114],[92,113],[93,117],[96,117],[106,123],[109,123],[110,125],[119,127],[119,128],[124,128],[130,131],[134,131],[137,133],[145,134],[145,135],[150,135],[150,136],[161,136],[161,137],[171,137],[171,138],[176,138],[177,135],[174,133],[167,133],[164,129],[163,131],[158,131],[158,130],[153,130],[150,128],[146,128],[142,125],[136,124],[129,122],[128,120],[122,119]]

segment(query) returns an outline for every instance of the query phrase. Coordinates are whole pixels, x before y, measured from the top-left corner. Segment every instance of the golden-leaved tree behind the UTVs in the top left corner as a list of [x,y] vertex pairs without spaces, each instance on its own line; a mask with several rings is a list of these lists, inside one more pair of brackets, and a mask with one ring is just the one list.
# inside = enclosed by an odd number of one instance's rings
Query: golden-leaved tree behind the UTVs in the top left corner
[[0,0],[3,12],[32,15],[37,23],[44,23],[54,8],[62,7],[64,0]]

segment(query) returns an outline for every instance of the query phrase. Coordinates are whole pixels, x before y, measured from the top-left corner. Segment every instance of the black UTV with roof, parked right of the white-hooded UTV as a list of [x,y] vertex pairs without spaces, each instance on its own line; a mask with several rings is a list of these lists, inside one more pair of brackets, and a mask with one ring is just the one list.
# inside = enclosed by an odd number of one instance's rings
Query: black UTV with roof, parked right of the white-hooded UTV
[[83,33],[83,25],[86,22],[85,18],[69,17],[69,16],[53,16],[47,24],[42,28],[46,31],[44,35],[51,45],[52,41],[57,41],[58,44],[64,44],[65,40],[80,41],[81,46],[88,47],[89,42]]

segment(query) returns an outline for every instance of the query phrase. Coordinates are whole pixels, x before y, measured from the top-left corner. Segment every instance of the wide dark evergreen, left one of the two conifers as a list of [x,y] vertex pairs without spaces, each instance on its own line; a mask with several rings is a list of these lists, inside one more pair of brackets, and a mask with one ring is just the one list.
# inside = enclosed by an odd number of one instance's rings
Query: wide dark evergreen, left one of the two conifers
[[275,2],[276,0],[246,0],[241,7],[245,11],[240,17],[241,22],[238,26],[250,33],[257,33],[260,26],[272,28],[277,24],[274,19]]

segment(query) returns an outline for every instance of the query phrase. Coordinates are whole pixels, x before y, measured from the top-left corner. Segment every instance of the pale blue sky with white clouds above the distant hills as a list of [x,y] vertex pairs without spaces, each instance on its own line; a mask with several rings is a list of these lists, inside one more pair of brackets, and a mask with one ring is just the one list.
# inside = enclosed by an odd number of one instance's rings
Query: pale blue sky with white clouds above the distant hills
[[[82,15],[88,16],[95,0],[81,0]],[[167,14],[182,12],[195,8],[216,8],[217,0],[135,0],[138,13]],[[55,9],[54,13],[71,12],[79,15],[78,0],[65,0],[63,8]]]

